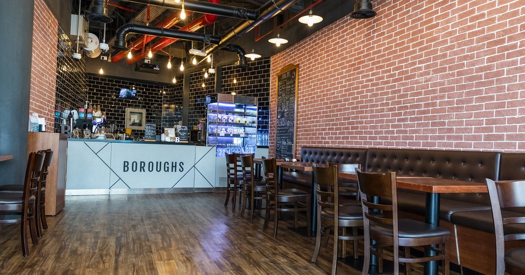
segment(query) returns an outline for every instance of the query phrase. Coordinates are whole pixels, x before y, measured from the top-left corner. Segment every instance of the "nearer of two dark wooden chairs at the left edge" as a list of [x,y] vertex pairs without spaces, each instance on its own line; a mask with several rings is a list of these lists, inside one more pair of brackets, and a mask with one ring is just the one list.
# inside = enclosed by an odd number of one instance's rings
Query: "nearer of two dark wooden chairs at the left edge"
[[[24,257],[29,256],[27,244],[27,228],[29,227],[33,245],[38,244],[36,232],[36,197],[40,182],[40,172],[44,164],[43,153],[29,153],[27,160],[26,175],[24,180],[24,191],[0,192],[0,215],[4,218],[0,224],[20,223],[20,235],[22,239],[22,253]],[[7,218],[9,215],[20,215],[19,218]]]

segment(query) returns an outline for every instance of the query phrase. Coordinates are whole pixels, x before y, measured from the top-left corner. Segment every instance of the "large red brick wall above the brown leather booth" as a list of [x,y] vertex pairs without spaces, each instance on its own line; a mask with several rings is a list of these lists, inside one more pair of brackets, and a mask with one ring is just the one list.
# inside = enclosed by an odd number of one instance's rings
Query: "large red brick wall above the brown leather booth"
[[306,145],[525,151],[522,1],[390,0],[374,10],[271,58],[271,83],[299,65],[296,155]]

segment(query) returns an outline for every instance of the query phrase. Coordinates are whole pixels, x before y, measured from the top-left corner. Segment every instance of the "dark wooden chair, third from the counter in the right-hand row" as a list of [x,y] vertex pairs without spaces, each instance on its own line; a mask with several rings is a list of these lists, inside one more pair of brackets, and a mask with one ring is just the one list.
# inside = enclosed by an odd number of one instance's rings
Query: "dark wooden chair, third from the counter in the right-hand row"
[[[266,216],[264,219],[264,226],[262,228],[266,230],[268,227],[268,221],[270,219],[270,210],[274,211],[274,238],[277,237],[277,225],[278,225],[278,213],[279,212],[293,212],[295,215],[294,225],[297,228],[297,213],[299,211],[306,211],[306,223],[307,228],[310,228],[310,193],[302,191],[296,188],[290,189],[279,189],[277,184],[277,164],[275,158],[269,160],[262,160],[262,178],[266,183]],[[299,203],[305,203],[305,208],[298,208]],[[292,205],[293,208],[283,207]],[[310,236],[310,230],[307,230],[308,236]]]

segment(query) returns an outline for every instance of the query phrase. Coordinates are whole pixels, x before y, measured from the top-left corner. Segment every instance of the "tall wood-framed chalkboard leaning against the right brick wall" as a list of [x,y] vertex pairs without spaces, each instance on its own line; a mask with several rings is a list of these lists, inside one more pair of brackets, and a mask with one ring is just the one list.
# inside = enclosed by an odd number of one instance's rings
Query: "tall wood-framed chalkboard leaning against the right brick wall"
[[277,73],[275,158],[295,155],[298,73],[297,65],[287,65]]

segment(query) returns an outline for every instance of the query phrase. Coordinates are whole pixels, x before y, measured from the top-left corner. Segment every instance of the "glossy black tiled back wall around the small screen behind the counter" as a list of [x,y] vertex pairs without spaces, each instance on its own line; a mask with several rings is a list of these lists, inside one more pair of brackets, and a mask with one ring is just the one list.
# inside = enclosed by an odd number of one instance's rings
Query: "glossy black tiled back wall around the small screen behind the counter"
[[[182,81],[178,81],[179,83]],[[101,111],[106,112],[106,119],[114,120],[117,129],[124,129],[124,118],[126,108],[136,108],[146,110],[146,123],[155,123],[157,131],[160,133],[163,126],[163,109],[164,104],[173,104],[174,106],[182,105],[182,92],[178,97],[176,89],[182,91],[182,84],[175,87],[164,86],[159,83],[135,82],[125,79],[106,78],[100,75],[88,75],[88,99],[93,105],[100,105]],[[118,94],[121,88],[137,90],[137,96],[134,99],[119,98]],[[166,99],[164,100],[164,97]],[[175,108],[174,108],[175,109]],[[180,110],[173,110],[173,119]],[[171,114],[170,114],[171,115]],[[166,117],[167,118],[167,117]],[[167,123],[167,120],[165,120]],[[172,126],[172,125],[169,125]],[[143,130],[133,130],[135,136],[144,136]]]

